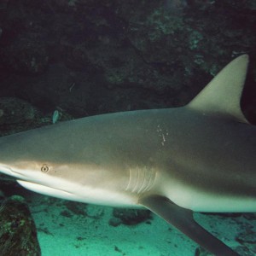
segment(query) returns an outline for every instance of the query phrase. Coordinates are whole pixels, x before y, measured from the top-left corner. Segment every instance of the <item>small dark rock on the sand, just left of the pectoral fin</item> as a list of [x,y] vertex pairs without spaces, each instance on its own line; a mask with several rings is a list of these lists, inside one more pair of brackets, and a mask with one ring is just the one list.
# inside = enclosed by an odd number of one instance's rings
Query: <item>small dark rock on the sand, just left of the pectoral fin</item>
[[109,220],[110,225],[118,226],[119,224],[135,225],[147,221],[151,218],[151,212],[148,210],[138,209],[113,209],[113,218]]

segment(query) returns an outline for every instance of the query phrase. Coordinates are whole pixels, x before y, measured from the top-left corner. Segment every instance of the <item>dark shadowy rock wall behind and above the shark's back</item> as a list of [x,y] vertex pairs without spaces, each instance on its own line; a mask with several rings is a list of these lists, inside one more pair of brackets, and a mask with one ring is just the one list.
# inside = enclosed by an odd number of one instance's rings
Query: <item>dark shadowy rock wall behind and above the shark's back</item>
[[[255,62],[255,1],[26,0],[3,11],[0,94],[43,102],[43,111],[182,106],[230,58]],[[251,88],[245,106],[255,116]]]

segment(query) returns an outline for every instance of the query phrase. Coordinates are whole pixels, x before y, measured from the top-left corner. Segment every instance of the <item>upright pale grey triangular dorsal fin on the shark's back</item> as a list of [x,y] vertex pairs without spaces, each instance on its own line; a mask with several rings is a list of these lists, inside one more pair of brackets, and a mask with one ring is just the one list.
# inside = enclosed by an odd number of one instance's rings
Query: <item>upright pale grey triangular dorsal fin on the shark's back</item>
[[248,55],[241,55],[231,61],[189,102],[188,108],[202,113],[230,116],[239,122],[248,123],[240,105],[248,60]]

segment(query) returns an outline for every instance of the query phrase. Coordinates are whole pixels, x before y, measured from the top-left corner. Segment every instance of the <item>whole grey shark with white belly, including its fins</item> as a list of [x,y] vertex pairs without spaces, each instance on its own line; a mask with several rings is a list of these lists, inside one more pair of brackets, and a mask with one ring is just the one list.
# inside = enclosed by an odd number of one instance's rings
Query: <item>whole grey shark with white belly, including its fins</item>
[[181,108],[108,113],[0,139],[0,172],[41,194],[146,207],[215,255],[238,255],[193,212],[256,212],[256,127],[241,112],[248,56]]

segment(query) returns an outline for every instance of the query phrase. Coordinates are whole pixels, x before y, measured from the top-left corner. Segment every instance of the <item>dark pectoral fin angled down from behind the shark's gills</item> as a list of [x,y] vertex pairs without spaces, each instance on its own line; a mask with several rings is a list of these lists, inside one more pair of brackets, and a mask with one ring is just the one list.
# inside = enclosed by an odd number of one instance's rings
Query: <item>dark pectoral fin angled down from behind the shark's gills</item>
[[148,195],[141,198],[139,204],[164,218],[166,222],[181,230],[186,236],[214,255],[239,255],[195,222],[192,211],[178,207],[168,198],[160,195]]

